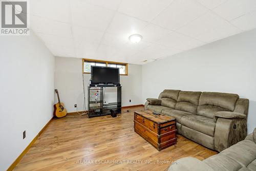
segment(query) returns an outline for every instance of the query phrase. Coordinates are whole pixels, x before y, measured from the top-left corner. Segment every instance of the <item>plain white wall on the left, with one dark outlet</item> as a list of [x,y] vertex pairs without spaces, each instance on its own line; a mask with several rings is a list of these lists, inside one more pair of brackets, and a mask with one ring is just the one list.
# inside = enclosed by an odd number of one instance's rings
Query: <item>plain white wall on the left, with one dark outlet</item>
[[0,170],[6,170],[52,118],[53,102],[50,51],[32,31],[30,36],[1,36]]

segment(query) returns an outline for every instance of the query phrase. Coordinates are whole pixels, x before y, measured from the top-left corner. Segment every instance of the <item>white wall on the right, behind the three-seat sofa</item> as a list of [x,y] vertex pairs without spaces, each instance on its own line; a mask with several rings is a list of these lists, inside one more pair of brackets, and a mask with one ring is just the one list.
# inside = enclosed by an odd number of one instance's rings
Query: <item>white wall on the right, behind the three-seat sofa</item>
[[256,127],[256,29],[142,66],[142,100],[164,89],[237,93]]

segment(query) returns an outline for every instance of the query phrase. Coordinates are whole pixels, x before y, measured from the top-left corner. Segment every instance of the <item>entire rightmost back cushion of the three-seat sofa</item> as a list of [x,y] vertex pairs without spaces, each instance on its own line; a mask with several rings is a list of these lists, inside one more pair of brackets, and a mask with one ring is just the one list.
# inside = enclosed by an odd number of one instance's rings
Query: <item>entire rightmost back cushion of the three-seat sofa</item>
[[212,118],[216,112],[233,111],[239,95],[203,92],[199,98],[197,114]]

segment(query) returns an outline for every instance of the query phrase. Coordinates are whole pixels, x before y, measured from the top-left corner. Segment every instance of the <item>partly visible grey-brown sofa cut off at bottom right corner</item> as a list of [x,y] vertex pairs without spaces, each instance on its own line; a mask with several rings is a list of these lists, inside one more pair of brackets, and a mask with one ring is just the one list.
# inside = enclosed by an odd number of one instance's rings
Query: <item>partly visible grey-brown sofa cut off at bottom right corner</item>
[[232,145],[218,155],[203,161],[185,157],[173,164],[168,171],[255,171],[256,170],[256,128],[245,140]]

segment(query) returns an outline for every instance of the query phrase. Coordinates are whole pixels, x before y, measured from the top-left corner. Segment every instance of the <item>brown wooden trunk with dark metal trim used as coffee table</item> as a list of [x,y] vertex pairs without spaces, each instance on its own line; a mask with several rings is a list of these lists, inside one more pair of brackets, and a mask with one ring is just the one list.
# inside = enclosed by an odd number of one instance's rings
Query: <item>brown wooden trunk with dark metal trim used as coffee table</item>
[[134,112],[134,131],[161,151],[176,144],[176,119],[154,115],[152,111]]

